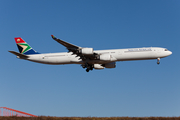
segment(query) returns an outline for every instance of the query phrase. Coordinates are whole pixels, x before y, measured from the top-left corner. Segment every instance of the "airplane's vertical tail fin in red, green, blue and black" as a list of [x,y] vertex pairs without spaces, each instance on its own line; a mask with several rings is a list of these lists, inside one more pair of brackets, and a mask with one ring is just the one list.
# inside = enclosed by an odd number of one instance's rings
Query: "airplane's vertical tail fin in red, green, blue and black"
[[21,54],[39,54],[31,46],[29,46],[21,37],[14,38]]

